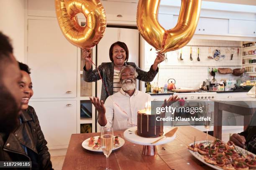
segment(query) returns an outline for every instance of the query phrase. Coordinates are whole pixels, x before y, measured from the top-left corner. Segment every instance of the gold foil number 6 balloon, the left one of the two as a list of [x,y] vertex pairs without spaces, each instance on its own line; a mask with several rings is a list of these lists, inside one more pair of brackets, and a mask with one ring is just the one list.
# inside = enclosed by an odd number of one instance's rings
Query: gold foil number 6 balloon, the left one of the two
[[[73,45],[90,49],[103,37],[107,23],[100,0],[55,0],[55,10],[62,33]],[[86,18],[84,27],[77,23],[78,13]]]

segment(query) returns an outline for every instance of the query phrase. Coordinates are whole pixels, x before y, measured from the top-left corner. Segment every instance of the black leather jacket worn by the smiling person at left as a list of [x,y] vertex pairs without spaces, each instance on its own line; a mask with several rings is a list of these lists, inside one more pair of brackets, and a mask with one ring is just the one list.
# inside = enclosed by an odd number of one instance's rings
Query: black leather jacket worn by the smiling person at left
[[[23,110],[20,118],[22,123],[14,133],[0,134],[0,161],[32,161],[32,170],[52,170],[47,142],[34,108]],[[30,157],[20,144],[26,146]]]

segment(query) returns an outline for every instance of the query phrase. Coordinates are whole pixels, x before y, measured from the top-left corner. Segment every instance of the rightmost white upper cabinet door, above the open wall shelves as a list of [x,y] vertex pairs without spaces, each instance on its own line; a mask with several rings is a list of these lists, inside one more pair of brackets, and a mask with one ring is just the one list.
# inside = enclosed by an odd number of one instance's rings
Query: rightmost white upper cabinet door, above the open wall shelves
[[256,36],[256,21],[229,20],[229,33]]

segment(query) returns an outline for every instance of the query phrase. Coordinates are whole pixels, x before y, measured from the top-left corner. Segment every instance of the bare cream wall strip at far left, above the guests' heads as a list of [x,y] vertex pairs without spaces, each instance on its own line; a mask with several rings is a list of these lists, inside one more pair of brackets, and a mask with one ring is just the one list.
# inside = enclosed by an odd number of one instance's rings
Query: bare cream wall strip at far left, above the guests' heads
[[12,40],[14,55],[24,62],[25,0],[0,0],[0,31]]

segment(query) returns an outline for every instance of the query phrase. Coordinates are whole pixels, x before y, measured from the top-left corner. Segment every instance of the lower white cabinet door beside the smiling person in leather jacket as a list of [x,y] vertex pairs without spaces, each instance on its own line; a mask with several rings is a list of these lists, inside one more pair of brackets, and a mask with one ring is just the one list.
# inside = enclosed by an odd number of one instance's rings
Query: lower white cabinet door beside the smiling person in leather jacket
[[66,148],[77,129],[77,101],[29,102],[34,107],[50,148]]

